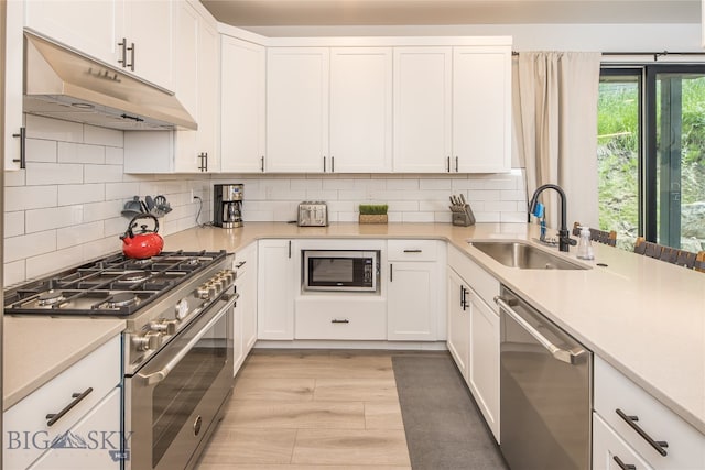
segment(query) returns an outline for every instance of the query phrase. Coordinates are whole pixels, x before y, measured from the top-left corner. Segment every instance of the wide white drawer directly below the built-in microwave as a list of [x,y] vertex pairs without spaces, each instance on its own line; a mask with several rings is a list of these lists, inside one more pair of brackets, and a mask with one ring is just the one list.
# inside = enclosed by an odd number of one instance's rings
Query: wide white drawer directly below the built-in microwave
[[387,339],[387,309],[383,302],[356,303],[341,297],[296,303],[296,339]]

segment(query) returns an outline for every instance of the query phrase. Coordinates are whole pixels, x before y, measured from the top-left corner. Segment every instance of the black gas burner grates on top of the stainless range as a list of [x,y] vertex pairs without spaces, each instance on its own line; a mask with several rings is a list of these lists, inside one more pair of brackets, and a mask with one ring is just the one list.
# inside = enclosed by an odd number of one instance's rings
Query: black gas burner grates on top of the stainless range
[[128,316],[226,258],[217,252],[163,252],[145,260],[115,254],[4,294],[6,314]]

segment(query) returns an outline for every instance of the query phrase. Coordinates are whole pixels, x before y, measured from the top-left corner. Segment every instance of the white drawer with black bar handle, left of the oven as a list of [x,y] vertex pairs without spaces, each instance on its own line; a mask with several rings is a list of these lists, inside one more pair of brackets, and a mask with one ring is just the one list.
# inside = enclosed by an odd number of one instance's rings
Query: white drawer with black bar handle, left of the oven
[[[117,336],[8,409],[3,414],[4,468],[26,468],[108,395],[120,383],[121,357]],[[93,391],[48,426],[46,415],[67,408],[77,400],[73,394],[88,389]]]

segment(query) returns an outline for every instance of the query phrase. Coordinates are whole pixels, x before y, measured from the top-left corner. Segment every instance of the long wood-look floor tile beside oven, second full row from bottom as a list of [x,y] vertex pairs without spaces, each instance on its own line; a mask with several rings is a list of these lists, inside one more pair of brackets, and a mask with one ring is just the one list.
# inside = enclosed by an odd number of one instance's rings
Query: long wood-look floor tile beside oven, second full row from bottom
[[241,428],[341,428],[365,429],[361,402],[274,402],[232,400],[226,416]]

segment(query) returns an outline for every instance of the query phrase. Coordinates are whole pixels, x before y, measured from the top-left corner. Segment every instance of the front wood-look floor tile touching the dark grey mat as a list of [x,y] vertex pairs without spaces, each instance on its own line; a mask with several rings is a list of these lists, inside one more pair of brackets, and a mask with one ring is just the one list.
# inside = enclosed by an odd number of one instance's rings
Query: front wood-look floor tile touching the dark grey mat
[[292,463],[410,466],[403,430],[300,429]]

